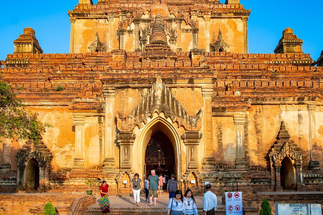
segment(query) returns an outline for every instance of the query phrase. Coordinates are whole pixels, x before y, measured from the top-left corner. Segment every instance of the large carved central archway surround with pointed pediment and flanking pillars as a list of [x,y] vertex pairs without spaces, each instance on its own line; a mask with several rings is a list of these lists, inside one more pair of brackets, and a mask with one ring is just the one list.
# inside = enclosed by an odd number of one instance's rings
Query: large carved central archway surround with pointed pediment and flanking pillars
[[[158,76],[155,83],[142,96],[141,102],[130,111],[127,117],[116,113],[116,124],[120,131],[117,140],[120,146],[127,142],[127,154],[130,162],[130,166],[128,162],[126,162],[128,166],[123,164],[124,158],[122,156],[125,155],[126,147],[120,147],[120,168],[132,169],[136,166],[139,169],[138,173],[143,175],[146,146],[151,135],[157,131],[156,128],[160,127],[159,130],[170,139],[174,148],[175,160],[177,160],[175,161],[177,179],[182,178],[182,162],[186,161],[184,165],[186,168],[191,164],[189,168],[198,169],[196,156],[197,145],[202,138],[202,134],[199,133],[202,126],[201,117],[201,109],[196,116],[190,116],[172,94],[172,90]],[[190,145],[186,146],[186,150],[189,150],[186,159],[181,158],[181,143],[183,140],[181,140],[180,135],[183,133],[185,133],[185,138],[183,138],[186,139],[184,140],[185,145]],[[132,155],[132,145],[134,145],[134,151],[137,152],[136,155]]]

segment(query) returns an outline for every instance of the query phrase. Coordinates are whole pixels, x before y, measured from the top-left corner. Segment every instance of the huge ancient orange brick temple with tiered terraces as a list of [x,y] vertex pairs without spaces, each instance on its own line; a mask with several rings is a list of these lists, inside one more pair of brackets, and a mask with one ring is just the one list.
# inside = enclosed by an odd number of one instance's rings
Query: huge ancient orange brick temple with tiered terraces
[[43,54],[25,28],[1,80],[52,127],[38,145],[3,140],[0,191],[92,178],[125,194],[151,169],[194,192],[323,190],[323,53],[286,28],[274,54],[248,54],[249,14],[239,0],[79,0],[69,54]]

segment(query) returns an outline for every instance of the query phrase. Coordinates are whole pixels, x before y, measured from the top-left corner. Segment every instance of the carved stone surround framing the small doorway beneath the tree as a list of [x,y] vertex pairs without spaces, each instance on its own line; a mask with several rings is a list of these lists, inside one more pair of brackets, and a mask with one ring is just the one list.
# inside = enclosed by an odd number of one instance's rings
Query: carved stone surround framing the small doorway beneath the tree
[[18,189],[25,189],[26,177],[24,176],[27,163],[31,158],[34,158],[39,165],[39,189],[49,189],[49,170],[53,157],[53,154],[43,141],[38,140],[38,144],[27,141],[16,154]]

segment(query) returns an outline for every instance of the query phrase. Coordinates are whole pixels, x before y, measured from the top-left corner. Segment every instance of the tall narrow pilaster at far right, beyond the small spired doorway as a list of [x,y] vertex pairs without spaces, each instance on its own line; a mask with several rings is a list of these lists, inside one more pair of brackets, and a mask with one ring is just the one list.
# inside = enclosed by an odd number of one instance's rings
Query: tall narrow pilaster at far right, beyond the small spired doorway
[[317,144],[317,134],[316,134],[316,116],[315,110],[317,108],[316,105],[308,105],[308,125],[309,125],[309,169],[313,171],[320,170],[320,162],[317,160],[313,160],[313,147],[312,144],[315,142]]

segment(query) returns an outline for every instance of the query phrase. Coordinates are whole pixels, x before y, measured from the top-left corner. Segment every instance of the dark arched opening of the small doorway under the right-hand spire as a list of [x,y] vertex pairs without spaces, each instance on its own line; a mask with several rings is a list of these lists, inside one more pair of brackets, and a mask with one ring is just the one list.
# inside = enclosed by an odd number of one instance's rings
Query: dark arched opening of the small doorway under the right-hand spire
[[287,156],[281,161],[280,185],[283,189],[296,189],[293,163]]

